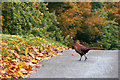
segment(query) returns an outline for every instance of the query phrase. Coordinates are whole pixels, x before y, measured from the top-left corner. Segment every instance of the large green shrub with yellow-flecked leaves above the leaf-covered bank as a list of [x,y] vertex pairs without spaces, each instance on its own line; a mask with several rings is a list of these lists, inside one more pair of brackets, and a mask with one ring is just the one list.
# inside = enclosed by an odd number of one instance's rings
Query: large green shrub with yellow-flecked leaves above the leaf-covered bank
[[3,33],[47,37],[62,43],[64,37],[55,13],[49,13],[43,2],[4,2],[2,3]]

